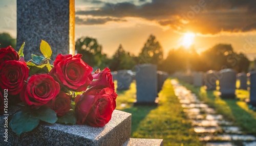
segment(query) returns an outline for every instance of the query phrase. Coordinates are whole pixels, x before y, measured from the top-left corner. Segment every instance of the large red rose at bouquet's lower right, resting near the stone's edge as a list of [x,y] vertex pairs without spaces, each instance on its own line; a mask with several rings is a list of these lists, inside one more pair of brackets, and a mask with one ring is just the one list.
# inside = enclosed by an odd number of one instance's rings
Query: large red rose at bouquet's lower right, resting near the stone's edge
[[116,108],[115,91],[109,87],[104,89],[90,88],[78,96],[75,107],[77,124],[92,127],[103,127],[111,119]]

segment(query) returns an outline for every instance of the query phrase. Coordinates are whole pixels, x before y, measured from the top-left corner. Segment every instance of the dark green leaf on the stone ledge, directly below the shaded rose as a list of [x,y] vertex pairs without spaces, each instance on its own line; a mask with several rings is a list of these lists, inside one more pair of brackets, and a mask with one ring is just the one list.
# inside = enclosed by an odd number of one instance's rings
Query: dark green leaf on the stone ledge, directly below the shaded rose
[[35,118],[39,118],[40,120],[46,121],[47,123],[51,124],[54,124],[58,119],[56,112],[47,106],[42,106],[38,109],[34,109],[32,115]]

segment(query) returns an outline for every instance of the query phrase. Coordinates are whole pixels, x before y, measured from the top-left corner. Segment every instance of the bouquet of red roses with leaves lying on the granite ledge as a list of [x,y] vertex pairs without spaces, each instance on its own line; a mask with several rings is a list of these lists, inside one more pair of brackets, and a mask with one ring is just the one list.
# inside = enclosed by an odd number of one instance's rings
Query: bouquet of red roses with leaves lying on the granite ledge
[[51,65],[51,47],[44,40],[40,44],[44,57],[32,54],[25,62],[24,44],[19,52],[11,46],[0,49],[1,111],[8,113],[8,103],[23,105],[10,117],[15,133],[33,130],[40,120],[93,127],[110,121],[117,94],[109,68],[92,74],[81,54],[59,54]]

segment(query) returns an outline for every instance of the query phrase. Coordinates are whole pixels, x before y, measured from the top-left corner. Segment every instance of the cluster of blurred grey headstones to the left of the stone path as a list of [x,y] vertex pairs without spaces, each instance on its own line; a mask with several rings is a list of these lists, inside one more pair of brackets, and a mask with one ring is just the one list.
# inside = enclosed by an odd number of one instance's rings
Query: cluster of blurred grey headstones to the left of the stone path
[[131,70],[113,71],[113,80],[117,80],[117,90],[127,90],[133,80],[136,80],[137,104],[155,103],[158,92],[168,78],[167,72],[157,70],[156,65],[141,64]]

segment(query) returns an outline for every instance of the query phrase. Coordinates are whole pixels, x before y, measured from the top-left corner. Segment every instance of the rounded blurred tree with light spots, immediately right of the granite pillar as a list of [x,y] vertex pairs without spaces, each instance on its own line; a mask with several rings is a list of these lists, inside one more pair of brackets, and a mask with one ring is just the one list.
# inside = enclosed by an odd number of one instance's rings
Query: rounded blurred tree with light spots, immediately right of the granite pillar
[[95,38],[81,37],[77,39],[75,49],[77,53],[82,54],[82,60],[94,69],[103,69],[108,64],[106,54],[103,54],[102,46],[98,44]]

